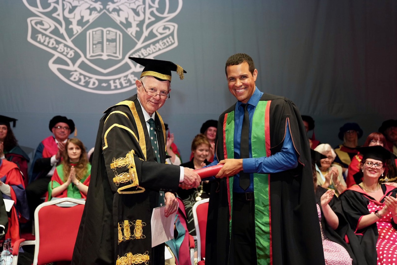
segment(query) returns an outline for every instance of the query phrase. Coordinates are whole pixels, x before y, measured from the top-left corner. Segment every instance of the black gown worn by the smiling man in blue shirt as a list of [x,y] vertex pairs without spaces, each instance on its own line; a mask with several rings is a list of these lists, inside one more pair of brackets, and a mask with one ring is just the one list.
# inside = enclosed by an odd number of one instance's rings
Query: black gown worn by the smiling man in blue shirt
[[[324,264],[320,225],[314,198],[310,146],[301,115],[287,98],[263,94],[260,100],[270,104],[270,151],[280,152],[285,129],[291,132],[298,158],[295,169],[270,174],[272,265]],[[224,159],[223,121],[218,120],[216,156]],[[289,121],[289,127],[287,127]],[[229,202],[226,179],[212,181],[206,231],[206,265],[227,264],[229,256]],[[260,217],[255,217],[260,218]],[[258,235],[256,235],[258,236]],[[258,264],[264,264],[258,259]]]

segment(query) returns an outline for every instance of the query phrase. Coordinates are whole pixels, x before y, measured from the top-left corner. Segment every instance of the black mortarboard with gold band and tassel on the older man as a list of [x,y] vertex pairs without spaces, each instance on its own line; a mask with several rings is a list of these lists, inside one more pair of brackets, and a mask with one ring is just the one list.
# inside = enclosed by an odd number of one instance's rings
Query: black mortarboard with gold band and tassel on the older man
[[173,63],[172,61],[162,61],[146,58],[129,57],[129,59],[144,66],[141,73],[141,78],[144,76],[152,76],[161,80],[168,80],[171,82],[171,71],[178,73],[179,78],[183,79],[183,73],[187,73],[182,67]]

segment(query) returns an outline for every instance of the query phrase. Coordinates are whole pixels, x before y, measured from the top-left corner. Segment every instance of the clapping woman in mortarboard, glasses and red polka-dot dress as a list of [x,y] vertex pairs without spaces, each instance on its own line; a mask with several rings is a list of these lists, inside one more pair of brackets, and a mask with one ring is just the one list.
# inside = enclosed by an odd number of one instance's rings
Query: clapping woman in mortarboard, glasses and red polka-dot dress
[[367,264],[395,264],[397,189],[378,182],[391,153],[382,146],[362,147],[358,151],[362,154],[363,179],[341,194],[342,209],[355,230]]

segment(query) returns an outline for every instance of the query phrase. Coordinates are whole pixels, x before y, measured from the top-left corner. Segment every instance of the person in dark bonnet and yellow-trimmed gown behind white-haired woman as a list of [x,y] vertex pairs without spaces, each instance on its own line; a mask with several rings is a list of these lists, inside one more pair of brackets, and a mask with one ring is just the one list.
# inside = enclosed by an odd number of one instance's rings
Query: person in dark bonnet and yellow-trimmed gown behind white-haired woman
[[357,154],[358,139],[362,136],[362,129],[357,123],[345,123],[339,128],[339,139],[343,140],[343,144],[335,147],[335,163],[340,165],[343,174],[350,165],[351,159]]

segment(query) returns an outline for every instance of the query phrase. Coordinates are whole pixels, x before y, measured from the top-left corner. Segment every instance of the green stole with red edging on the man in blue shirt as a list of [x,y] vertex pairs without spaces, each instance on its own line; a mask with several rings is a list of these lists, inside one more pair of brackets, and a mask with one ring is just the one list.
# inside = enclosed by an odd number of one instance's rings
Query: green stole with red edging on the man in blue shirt
[[[259,101],[252,118],[251,149],[252,157],[270,156],[269,112],[271,101]],[[226,113],[223,123],[224,158],[234,158],[234,110]],[[233,177],[226,180],[229,196],[229,232],[231,234],[231,214],[233,207]],[[258,264],[270,264],[271,222],[269,175],[254,173],[255,196],[255,242]]]

